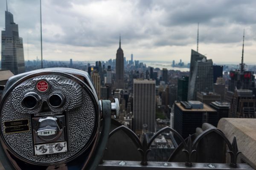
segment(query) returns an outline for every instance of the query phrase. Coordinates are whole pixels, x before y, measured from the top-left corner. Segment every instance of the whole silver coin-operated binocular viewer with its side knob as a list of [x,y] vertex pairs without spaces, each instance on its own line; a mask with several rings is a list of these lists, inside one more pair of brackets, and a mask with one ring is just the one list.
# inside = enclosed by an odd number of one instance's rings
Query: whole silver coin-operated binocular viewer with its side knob
[[49,68],[11,77],[0,103],[0,160],[6,170],[96,169],[115,99],[98,100],[87,72]]

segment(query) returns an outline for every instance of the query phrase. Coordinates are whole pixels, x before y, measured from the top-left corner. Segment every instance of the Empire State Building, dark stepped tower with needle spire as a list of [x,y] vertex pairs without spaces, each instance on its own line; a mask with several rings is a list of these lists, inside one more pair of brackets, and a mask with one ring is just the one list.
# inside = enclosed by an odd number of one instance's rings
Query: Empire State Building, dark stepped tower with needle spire
[[121,48],[121,36],[119,37],[119,48],[116,52],[116,88],[124,88],[124,52]]

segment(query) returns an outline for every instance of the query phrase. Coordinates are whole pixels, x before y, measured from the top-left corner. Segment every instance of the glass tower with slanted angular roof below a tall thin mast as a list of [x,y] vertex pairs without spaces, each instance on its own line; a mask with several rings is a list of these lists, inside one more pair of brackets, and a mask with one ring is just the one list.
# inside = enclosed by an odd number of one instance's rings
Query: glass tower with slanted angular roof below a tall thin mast
[[189,72],[188,100],[196,100],[197,92],[199,91],[213,91],[212,82],[212,59],[207,59],[202,54],[192,50]]

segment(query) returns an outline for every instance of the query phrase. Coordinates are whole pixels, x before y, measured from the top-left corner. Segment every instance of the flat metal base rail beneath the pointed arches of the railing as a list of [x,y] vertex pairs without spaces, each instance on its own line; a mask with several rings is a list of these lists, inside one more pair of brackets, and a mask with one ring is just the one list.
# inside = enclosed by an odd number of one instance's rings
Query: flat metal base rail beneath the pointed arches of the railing
[[230,167],[229,164],[217,163],[193,163],[192,167],[187,167],[183,162],[148,162],[147,165],[140,164],[140,161],[104,161],[99,164],[97,170],[176,170],[176,169],[193,169],[193,170],[253,170],[248,164],[237,164],[236,168]]

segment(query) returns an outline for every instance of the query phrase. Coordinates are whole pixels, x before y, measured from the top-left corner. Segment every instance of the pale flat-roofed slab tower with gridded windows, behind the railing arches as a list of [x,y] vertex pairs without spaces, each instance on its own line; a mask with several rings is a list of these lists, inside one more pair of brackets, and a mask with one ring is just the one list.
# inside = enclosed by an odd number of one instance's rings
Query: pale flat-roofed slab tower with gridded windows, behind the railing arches
[[156,81],[152,79],[134,79],[133,129],[142,130],[148,125],[148,130],[155,131]]

